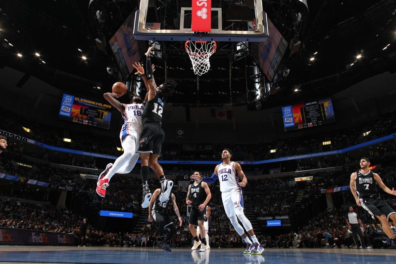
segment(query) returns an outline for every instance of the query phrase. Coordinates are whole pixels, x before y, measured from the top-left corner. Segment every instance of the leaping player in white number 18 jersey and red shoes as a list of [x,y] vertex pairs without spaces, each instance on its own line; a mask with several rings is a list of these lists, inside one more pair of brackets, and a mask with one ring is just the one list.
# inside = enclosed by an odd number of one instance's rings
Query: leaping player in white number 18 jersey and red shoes
[[116,98],[123,94],[105,93],[104,98],[112,106],[117,108],[124,118],[124,124],[121,127],[120,140],[124,149],[124,154],[118,157],[114,164],[109,163],[106,169],[99,174],[96,192],[100,197],[106,195],[106,189],[109,181],[115,173],[129,173],[136,165],[139,159],[139,153],[136,153],[139,144],[140,133],[142,133],[142,114],[144,110],[143,100],[139,96],[134,96],[130,104],[121,104]]

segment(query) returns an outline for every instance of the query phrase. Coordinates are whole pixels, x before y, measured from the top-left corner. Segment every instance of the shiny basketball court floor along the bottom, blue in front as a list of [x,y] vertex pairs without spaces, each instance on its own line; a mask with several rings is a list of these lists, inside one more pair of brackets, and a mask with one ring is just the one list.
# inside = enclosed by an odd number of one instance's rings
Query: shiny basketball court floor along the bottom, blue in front
[[266,249],[262,256],[244,255],[243,249],[212,249],[191,252],[152,248],[0,246],[0,264],[6,263],[93,263],[93,264],[182,264],[182,263],[396,263],[393,250],[356,249]]

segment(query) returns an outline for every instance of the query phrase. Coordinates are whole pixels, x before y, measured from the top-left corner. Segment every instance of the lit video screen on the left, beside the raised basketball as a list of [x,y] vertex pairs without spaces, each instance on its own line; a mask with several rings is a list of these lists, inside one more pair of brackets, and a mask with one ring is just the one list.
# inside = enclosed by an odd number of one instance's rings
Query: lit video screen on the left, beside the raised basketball
[[111,105],[63,94],[59,118],[77,124],[109,129]]

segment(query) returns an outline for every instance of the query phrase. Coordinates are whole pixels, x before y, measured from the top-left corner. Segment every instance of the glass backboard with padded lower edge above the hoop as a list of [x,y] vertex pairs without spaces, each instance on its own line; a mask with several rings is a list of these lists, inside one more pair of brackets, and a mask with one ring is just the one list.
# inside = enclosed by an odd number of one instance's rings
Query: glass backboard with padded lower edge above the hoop
[[[194,1],[199,3],[203,0]],[[210,14],[206,13],[209,10],[204,10],[205,13],[198,13],[199,16],[208,15],[207,17],[211,20],[210,32],[203,33],[193,32],[191,29],[192,0],[180,1],[181,5],[185,6],[178,6],[178,4],[169,6],[168,10],[174,9],[175,21],[167,24],[158,21],[158,14],[153,14],[160,8],[164,8],[167,3],[157,7],[151,6],[152,2],[149,0],[141,0],[140,9],[136,11],[135,15],[133,34],[135,39],[147,41],[265,41],[268,37],[268,26],[262,1],[251,0],[250,2],[253,2],[254,6],[230,5],[226,1],[212,0]],[[168,16],[168,14],[164,15],[164,17]]]

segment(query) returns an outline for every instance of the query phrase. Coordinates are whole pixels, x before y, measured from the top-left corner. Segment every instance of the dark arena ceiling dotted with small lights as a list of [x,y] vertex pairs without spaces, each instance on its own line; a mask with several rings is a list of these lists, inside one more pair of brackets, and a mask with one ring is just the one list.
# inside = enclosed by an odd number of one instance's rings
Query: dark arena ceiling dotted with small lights
[[[170,10],[183,1],[151,1],[152,19],[171,16]],[[241,3],[249,5],[250,0],[219,1],[224,9]],[[19,85],[34,75],[65,92],[101,98],[116,81],[106,70],[114,67],[114,58],[108,45],[100,51],[95,39],[107,42],[139,1],[94,0],[90,8],[88,4],[88,0],[0,0],[1,67],[26,72]],[[255,96],[258,75],[251,71],[255,61],[249,52],[233,61],[230,82],[226,45],[232,50],[233,44],[224,43],[223,52],[212,56],[212,71],[199,78],[199,90],[187,54],[181,49],[168,51],[167,75],[179,81],[172,103],[247,104],[256,109],[258,100],[261,107],[279,106],[330,96],[370,76],[395,71],[395,0],[308,0],[308,13],[298,0],[263,0],[263,7],[288,43],[292,38],[301,41],[297,53],[288,49],[283,56],[270,92]],[[302,16],[296,24],[298,12]],[[160,82],[164,60],[155,63]]]

